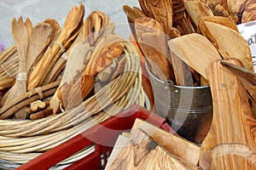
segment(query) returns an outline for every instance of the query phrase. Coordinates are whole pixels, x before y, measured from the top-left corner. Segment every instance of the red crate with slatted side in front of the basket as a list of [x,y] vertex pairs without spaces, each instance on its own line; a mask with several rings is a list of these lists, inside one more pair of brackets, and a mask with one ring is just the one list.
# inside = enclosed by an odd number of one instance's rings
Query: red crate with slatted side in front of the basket
[[69,139],[67,142],[44,152],[44,154],[34,158],[32,161],[26,162],[16,169],[49,169],[49,167],[55,166],[58,162],[65,160],[79,150],[83,150],[94,144],[95,150],[90,153],[90,155],[84,156],[84,158],[74,162],[65,169],[102,170],[107,164],[107,158],[110,155],[119,134],[129,132],[137,118],[161,127],[167,132],[174,133],[164,118],[149,112],[143,107],[132,105],[125,111],[119,112],[116,116],[112,116],[108,118],[108,120],[85,130],[73,139]]

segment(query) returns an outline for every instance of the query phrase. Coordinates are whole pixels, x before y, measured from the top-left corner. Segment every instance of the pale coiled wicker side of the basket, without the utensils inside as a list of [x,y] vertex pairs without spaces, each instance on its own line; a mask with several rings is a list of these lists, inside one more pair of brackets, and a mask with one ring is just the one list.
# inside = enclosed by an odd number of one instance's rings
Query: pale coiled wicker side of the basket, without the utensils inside
[[[1,120],[0,159],[6,164],[26,163],[131,105],[144,105],[137,49],[127,41],[124,51],[125,71],[73,109],[39,120]],[[88,153],[90,149],[82,150],[59,165],[77,161]]]

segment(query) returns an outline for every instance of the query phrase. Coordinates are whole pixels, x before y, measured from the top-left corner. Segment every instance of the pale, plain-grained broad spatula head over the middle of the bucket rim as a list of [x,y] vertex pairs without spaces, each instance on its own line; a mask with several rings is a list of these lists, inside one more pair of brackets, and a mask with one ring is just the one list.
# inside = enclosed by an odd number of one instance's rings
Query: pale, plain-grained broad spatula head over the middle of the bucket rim
[[221,59],[212,42],[197,33],[174,38],[168,42],[168,45],[174,54],[206,78],[207,66],[212,61]]

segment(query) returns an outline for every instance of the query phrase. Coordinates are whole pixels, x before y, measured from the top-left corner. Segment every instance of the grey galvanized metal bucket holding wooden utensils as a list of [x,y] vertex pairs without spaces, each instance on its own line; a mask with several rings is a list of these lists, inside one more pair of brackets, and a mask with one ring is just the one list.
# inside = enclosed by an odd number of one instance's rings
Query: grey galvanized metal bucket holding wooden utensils
[[196,144],[205,139],[212,123],[212,95],[209,86],[182,87],[149,74],[157,113],[181,137]]

